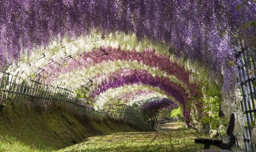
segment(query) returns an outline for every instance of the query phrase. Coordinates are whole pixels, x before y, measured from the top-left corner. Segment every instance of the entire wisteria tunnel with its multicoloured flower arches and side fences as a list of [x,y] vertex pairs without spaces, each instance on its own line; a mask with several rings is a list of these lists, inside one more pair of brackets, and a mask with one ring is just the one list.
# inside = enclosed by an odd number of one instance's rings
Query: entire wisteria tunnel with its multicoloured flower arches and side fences
[[256,114],[256,1],[1,1],[0,105],[67,104],[157,130],[165,110],[236,146]]

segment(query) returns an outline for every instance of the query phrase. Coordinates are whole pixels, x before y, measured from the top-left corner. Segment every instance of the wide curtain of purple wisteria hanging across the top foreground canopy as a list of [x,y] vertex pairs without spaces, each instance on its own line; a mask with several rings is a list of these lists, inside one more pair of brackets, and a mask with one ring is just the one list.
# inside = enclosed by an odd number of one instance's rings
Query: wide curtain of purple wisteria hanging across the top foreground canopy
[[[253,37],[255,29],[243,30],[242,26],[255,20],[255,3],[243,2],[2,1],[0,48],[5,56],[1,60],[10,62],[20,52],[45,45],[56,36],[75,37],[98,28],[103,33],[135,32],[140,38],[171,43],[179,50],[178,56],[212,62],[217,56],[199,49],[207,47],[203,41],[219,44],[207,35],[212,30],[217,32],[219,40],[226,27],[233,32],[240,29],[248,43],[248,37]],[[238,6],[241,7],[237,9]]]

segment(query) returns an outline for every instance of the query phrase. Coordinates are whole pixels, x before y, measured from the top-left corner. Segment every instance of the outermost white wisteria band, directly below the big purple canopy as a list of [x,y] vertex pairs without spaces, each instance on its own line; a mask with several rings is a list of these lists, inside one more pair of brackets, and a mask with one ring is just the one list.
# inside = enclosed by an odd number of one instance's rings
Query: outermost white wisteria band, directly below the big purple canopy
[[156,54],[163,54],[165,56],[170,54],[167,46],[156,44],[146,39],[139,42],[135,34],[110,33],[103,38],[99,32],[92,31],[87,36],[75,39],[64,38],[50,42],[45,47],[33,48],[29,56],[26,53],[21,54],[20,59],[12,64],[9,71],[14,71],[18,66],[20,69],[16,71],[24,73],[25,76],[31,75],[40,68],[45,69],[47,63],[51,61],[53,62],[47,68],[56,69],[63,59],[66,60],[66,57],[77,58],[78,53],[91,52],[93,49],[100,48],[101,46],[112,48],[120,46],[122,50],[136,50],[137,52],[143,52],[148,47],[154,48]]

